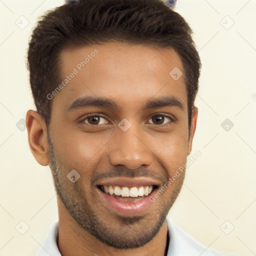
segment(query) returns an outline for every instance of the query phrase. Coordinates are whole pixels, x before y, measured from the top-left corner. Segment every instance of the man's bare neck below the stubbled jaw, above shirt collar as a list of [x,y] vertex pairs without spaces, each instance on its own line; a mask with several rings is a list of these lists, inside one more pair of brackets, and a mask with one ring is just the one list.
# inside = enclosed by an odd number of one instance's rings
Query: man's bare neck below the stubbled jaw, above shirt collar
[[[58,202],[59,204],[59,202]],[[58,205],[60,206],[60,205]],[[58,248],[62,256],[164,256],[167,238],[167,222],[164,220],[158,233],[141,247],[118,249],[106,245],[84,230],[67,212],[64,205],[58,207]],[[167,244],[168,246],[168,244]]]

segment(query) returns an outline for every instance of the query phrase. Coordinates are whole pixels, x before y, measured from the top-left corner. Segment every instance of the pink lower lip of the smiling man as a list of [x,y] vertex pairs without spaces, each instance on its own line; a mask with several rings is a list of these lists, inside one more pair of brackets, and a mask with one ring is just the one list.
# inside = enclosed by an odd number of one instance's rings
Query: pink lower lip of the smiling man
[[105,201],[112,208],[114,208],[115,210],[117,210],[119,212],[129,213],[129,214],[146,211],[152,204],[152,202],[149,200],[149,197],[152,196],[153,193],[155,192],[155,191],[152,191],[150,193],[150,195],[144,197],[140,201],[125,202],[125,201],[120,201],[120,200],[110,196],[109,194],[102,192],[100,189],[97,189],[97,190],[99,190],[99,192],[103,195]]

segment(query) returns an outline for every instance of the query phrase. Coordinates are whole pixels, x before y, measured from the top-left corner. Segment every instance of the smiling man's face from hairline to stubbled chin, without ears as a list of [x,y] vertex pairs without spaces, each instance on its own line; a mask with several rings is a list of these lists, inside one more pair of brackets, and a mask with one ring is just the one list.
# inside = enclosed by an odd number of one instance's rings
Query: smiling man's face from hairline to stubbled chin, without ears
[[[174,67],[183,72],[180,58],[170,48],[112,42],[68,47],[60,59],[63,80],[75,75],[52,99],[48,154],[59,203],[106,244],[141,246],[158,232],[184,179],[183,173],[149,200],[190,150],[184,77],[169,75]],[[88,96],[112,104],[88,104]],[[71,170],[80,175],[74,183]],[[106,194],[100,185],[154,186],[148,196],[127,197]]]

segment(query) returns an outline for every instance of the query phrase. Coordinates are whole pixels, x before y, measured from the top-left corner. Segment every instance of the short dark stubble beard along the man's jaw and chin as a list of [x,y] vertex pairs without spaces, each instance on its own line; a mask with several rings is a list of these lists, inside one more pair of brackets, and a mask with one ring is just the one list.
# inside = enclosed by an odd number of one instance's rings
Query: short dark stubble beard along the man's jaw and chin
[[[115,248],[142,246],[158,233],[170,207],[178,196],[184,178],[179,180],[179,184],[172,191],[169,200],[167,202],[162,201],[157,211],[152,212],[149,217],[148,214],[145,218],[142,215],[123,216],[116,213],[114,215],[116,222],[109,223],[107,216],[100,215],[100,209],[96,206],[93,207],[93,205],[98,205],[97,199],[91,196],[89,202],[84,196],[86,193],[82,189],[81,183],[72,183],[66,177],[68,171],[57,159],[49,133],[47,139],[49,166],[56,194],[80,227],[99,241]],[[86,237],[84,238],[86,239]]]

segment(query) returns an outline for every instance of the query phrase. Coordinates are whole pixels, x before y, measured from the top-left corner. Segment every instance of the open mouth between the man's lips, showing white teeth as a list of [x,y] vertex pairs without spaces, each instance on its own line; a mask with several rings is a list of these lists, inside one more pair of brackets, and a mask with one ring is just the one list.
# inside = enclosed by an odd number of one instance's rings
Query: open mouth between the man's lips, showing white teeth
[[157,185],[141,186],[118,186],[118,185],[98,185],[103,193],[106,193],[120,201],[136,202],[147,197],[157,188]]

